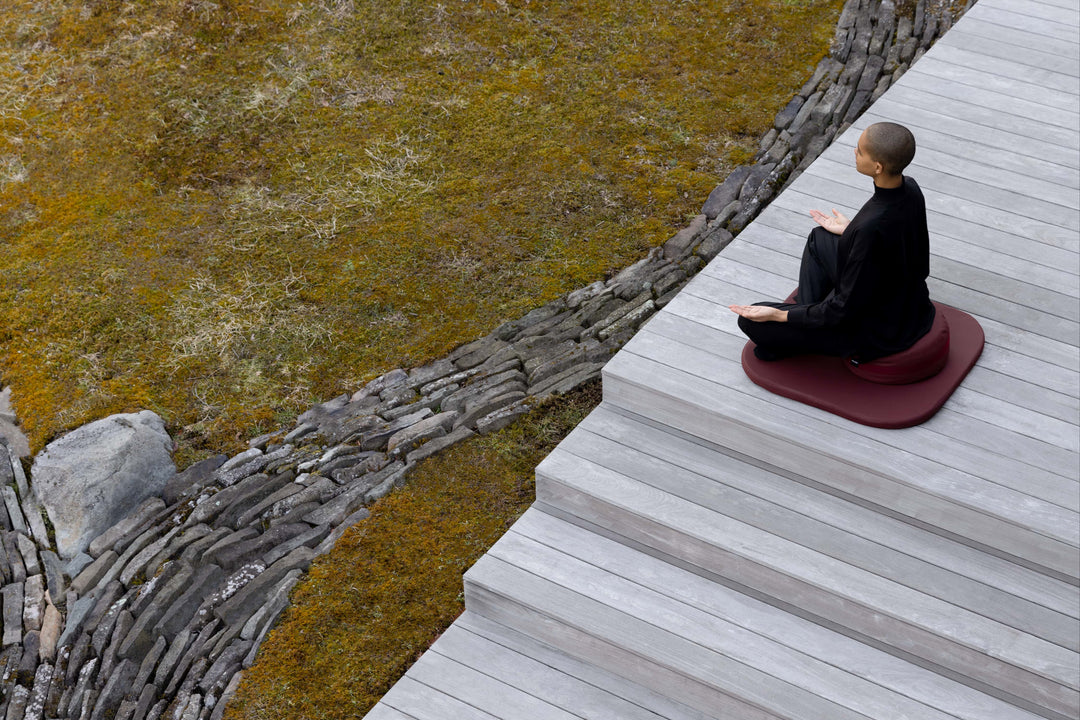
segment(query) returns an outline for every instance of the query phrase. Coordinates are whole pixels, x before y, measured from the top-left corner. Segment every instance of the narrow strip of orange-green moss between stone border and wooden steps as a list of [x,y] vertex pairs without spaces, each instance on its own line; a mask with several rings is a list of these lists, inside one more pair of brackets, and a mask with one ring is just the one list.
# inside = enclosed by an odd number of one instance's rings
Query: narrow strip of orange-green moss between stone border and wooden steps
[[532,502],[534,468],[599,395],[595,381],[420,463],[315,560],[225,717],[363,717],[460,614],[461,573]]

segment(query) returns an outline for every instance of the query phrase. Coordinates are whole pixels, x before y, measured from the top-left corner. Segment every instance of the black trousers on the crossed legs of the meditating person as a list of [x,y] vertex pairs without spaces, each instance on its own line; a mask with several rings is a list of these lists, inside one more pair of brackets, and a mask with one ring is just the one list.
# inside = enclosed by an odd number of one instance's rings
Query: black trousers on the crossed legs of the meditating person
[[[824,300],[839,281],[839,235],[822,227],[814,228],[807,236],[799,264],[799,293],[797,303],[757,302],[787,310],[796,304],[812,304]],[[757,345],[754,353],[761,359],[780,359],[791,355],[847,356],[854,354],[859,339],[851,332],[837,328],[795,327],[788,323],[755,323],[739,318],[739,328]]]

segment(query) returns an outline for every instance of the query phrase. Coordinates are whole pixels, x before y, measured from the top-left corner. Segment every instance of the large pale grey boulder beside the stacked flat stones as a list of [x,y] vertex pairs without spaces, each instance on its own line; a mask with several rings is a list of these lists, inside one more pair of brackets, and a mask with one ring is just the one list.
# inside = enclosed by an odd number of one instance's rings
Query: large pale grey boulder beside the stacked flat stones
[[176,474],[173,440],[149,410],[78,427],[33,459],[30,484],[70,558]]

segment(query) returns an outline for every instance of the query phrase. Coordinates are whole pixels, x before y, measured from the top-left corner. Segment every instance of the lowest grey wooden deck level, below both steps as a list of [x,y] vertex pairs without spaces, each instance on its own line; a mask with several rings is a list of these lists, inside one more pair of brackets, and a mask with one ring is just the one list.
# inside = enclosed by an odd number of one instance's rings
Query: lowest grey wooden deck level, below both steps
[[406,677],[368,720],[710,720],[468,611]]

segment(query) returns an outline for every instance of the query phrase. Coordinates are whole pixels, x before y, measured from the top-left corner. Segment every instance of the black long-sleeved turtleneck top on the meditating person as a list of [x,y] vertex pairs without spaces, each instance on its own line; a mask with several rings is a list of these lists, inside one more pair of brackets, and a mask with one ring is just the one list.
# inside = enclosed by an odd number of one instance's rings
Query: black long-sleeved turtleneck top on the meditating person
[[791,308],[788,323],[850,331],[863,359],[905,350],[930,329],[930,234],[915,180],[875,187],[840,235],[838,255],[836,288],[821,302]]

